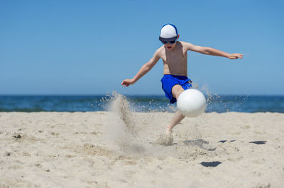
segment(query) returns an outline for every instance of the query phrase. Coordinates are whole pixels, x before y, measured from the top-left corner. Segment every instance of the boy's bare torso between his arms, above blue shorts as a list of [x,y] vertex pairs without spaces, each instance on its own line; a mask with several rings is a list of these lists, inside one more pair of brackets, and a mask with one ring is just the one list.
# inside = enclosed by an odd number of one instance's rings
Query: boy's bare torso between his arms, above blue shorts
[[158,49],[158,55],[163,59],[163,74],[187,76],[187,49],[182,44],[184,42],[177,41],[175,48],[171,51],[165,49],[165,47]]

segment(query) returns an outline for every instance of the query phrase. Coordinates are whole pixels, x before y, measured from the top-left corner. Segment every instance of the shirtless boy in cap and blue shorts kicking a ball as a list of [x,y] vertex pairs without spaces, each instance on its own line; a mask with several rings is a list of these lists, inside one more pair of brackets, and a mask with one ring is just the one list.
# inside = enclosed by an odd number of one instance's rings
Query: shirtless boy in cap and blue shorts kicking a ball
[[[182,91],[192,87],[190,79],[187,78],[187,50],[229,59],[243,58],[243,54],[228,54],[212,47],[201,47],[192,45],[189,42],[177,41],[179,37],[180,35],[175,25],[163,25],[159,37],[163,46],[155,51],[150,61],[141,67],[136,76],[132,79],[122,81],[121,86],[125,87],[136,83],[136,81],[147,74],[161,58],[164,64],[164,76],[161,79],[162,88],[165,91],[165,96],[170,100],[170,103],[175,103]],[[165,134],[169,135],[173,127],[183,118],[185,117],[179,111],[175,112],[173,119],[165,129]]]

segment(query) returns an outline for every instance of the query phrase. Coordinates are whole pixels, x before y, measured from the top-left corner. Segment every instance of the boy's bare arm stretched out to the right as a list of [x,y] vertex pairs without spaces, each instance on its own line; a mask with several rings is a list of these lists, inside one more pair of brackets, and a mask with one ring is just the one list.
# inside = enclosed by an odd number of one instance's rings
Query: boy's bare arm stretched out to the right
[[226,52],[222,52],[218,49],[214,49],[212,47],[201,47],[201,46],[195,46],[192,45],[188,42],[185,43],[187,50],[195,51],[195,52],[200,52],[201,54],[207,54],[207,55],[212,55],[212,56],[221,56],[221,57],[227,57],[229,59],[238,59],[241,58],[243,59],[243,54],[239,53],[234,53],[234,54],[228,54]]

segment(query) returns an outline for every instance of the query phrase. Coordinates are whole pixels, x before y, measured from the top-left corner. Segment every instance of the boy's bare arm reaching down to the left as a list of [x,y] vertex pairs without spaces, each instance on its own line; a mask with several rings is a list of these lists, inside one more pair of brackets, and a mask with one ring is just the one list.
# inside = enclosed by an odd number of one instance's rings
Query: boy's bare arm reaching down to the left
[[141,69],[138,71],[136,76],[134,76],[132,79],[126,79],[122,81],[121,86],[128,87],[129,85],[136,83],[136,81],[138,81],[142,76],[147,74],[148,71],[150,71],[153,68],[153,66],[155,66],[155,64],[158,62],[159,59],[160,56],[158,55],[158,50],[157,50],[153,55],[153,57],[141,67]]

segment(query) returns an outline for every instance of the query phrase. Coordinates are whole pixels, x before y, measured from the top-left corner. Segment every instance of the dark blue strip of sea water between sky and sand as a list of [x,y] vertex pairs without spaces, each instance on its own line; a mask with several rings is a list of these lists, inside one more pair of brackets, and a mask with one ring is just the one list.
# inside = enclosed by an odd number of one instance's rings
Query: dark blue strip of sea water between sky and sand
[[[106,95],[0,95],[0,112],[94,112],[109,110]],[[175,112],[165,96],[126,96],[133,112]],[[284,95],[206,96],[205,112],[281,112]]]

